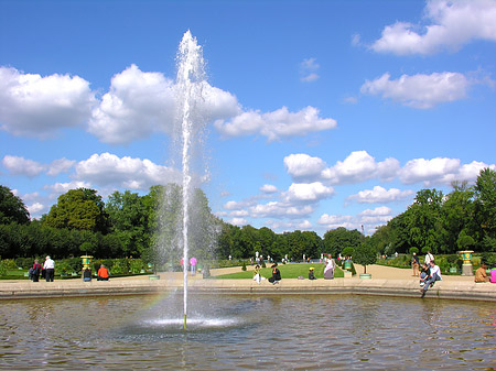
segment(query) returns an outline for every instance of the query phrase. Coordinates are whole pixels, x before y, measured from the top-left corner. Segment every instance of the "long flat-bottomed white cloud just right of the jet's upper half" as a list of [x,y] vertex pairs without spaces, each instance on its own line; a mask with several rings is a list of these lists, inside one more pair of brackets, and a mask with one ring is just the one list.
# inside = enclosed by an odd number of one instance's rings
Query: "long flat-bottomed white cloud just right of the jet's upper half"
[[282,107],[267,113],[242,112],[228,121],[216,120],[214,124],[227,138],[258,134],[272,142],[336,127],[335,120],[322,119],[319,113],[319,109],[314,107],[306,107],[298,112],[290,112],[287,107]]

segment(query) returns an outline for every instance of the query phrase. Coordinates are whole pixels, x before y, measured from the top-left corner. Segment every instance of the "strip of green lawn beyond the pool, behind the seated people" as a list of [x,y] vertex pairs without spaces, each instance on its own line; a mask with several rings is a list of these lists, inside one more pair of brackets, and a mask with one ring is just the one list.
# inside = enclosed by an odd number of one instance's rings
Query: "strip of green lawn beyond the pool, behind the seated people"
[[[324,263],[315,263],[315,264],[306,264],[306,263],[300,263],[300,264],[280,264],[278,265],[279,271],[281,271],[281,277],[284,279],[298,279],[300,275],[304,279],[309,279],[309,269],[313,266],[315,269],[314,274],[316,279],[323,279],[324,277]],[[272,269],[271,268],[263,268],[260,271],[260,274],[269,279],[272,276]],[[254,277],[254,271],[241,271],[241,268],[239,268],[238,273],[229,273],[229,274],[223,274],[217,275],[215,279],[226,279],[226,280],[242,280],[242,279],[249,279],[251,280]],[[343,271],[336,266],[334,271],[334,277],[344,277]]]

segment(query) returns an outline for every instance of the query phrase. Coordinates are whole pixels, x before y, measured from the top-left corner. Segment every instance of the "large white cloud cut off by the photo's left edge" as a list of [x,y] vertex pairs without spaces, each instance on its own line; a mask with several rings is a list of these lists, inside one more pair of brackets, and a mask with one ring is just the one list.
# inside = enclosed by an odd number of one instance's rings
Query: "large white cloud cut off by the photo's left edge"
[[85,123],[96,102],[89,83],[78,76],[0,67],[0,129],[11,134],[51,138],[61,128]]

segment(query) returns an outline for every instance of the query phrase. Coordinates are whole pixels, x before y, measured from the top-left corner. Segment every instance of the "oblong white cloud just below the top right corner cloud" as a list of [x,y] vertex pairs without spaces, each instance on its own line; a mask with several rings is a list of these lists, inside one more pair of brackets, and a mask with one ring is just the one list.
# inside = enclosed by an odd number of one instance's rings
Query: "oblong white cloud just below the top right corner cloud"
[[360,92],[389,98],[412,108],[428,109],[465,98],[471,84],[459,73],[402,75],[396,80],[391,80],[386,73],[375,80],[366,80]]

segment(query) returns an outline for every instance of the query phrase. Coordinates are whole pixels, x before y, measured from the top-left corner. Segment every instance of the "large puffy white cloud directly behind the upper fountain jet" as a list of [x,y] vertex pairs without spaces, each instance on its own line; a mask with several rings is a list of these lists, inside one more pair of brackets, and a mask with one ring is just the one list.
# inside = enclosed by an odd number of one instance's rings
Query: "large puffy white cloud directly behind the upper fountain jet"
[[[238,114],[236,97],[204,83],[198,97],[201,124]],[[89,132],[106,143],[122,144],[153,132],[173,133],[176,117],[174,81],[161,73],[131,65],[111,79],[110,89],[93,111]]]

